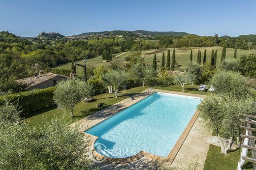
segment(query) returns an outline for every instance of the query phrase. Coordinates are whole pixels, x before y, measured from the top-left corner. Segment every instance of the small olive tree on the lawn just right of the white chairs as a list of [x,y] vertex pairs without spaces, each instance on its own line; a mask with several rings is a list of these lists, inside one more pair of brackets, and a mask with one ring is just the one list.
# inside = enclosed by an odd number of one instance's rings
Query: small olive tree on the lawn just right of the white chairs
[[102,80],[106,85],[112,85],[117,98],[117,92],[123,85],[126,84],[128,74],[123,70],[109,70],[102,76]]

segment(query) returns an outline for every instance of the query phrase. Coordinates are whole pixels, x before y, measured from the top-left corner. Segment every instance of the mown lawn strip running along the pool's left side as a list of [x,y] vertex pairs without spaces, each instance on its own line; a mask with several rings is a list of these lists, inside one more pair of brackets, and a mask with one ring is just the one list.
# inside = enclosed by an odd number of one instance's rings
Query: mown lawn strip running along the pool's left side
[[[82,119],[90,114],[96,113],[99,110],[102,110],[108,106],[111,106],[117,102],[120,102],[131,95],[137,94],[147,87],[135,87],[128,90],[122,90],[118,93],[118,98],[115,98],[115,94],[112,93],[104,93],[94,96],[96,101],[90,103],[79,103],[74,108],[74,116],[70,117],[70,113],[64,113],[64,111],[58,109],[56,106],[52,106],[46,109],[42,109],[40,111],[31,113],[26,115],[25,120],[31,126],[40,126],[44,121],[50,121],[53,117],[61,117],[65,116],[66,120],[71,120],[71,122],[75,122],[79,119]],[[106,105],[101,108],[96,108],[97,103],[105,103]]]

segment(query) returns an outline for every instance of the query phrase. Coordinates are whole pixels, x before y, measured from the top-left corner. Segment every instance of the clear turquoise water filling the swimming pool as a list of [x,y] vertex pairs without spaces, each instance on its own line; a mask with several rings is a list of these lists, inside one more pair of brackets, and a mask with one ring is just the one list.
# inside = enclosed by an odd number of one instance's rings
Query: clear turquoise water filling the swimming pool
[[139,151],[167,157],[200,103],[199,98],[157,93],[92,127],[95,149],[111,158]]

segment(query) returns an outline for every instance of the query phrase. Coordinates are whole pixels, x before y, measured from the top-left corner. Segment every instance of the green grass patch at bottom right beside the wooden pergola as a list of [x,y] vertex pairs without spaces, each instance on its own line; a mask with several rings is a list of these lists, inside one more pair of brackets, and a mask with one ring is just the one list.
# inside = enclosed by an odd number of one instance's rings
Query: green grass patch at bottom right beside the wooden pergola
[[[221,154],[221,147],[210,144],[204,163],[204,170],[237,170],[240,149],[230,151],[227,156]],[[246,162],[245,170],[253,170],[253,165]]]

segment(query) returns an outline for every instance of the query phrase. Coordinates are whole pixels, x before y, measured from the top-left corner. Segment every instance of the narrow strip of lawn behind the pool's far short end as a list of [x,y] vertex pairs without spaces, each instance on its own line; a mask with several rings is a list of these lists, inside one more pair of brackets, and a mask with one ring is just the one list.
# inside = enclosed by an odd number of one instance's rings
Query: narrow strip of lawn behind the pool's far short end
[[[208,86],[206,86],[206,92],[199,92],[198,91],[199,85],[185,85],[184,86],[184,92],[185,93],[192,93],[192,94],[202,94],[202,95],[208,95],[210,92],[207,92]],[[180,85],[170,85],[170,86],[155,86],[156,89],[161,90],[169,90],[169,91],[178,91],[182,92],[182,87]]]

